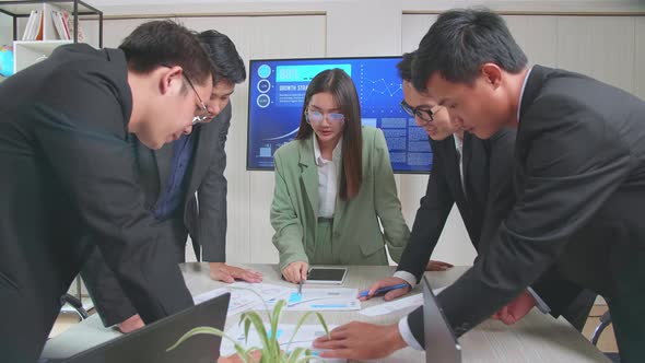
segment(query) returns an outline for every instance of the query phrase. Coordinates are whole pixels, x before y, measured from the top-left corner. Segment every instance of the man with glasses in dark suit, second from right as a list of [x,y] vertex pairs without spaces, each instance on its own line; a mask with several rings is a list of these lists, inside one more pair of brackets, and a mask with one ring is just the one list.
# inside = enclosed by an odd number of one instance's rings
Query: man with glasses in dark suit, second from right
[[[424,267],[434,250],[453,204],[456,203],[470,236],[470,242],[479,256],[485,254],[492,235],[506,218],[515,203],[513,168],[515,130],[502,129],[488,140],[479,139],[450,122],[445,107],[417,91],[412,85],[412,60],[414,52],[406,54],[397,65],[403,80],[403,109],[423,127],[432,144],[433,168],[425,196],[414,218],[410,242],[394,277],[374,283],[368,295],[377,289],[407,283],[385,295],[386,301],[408,293],[423,277]],[[523,293],[523,298],[535,301],[543,313],[554,317],[561,314],[579,331],[586,323],[596,294],[583,291],[559,277],[548,274],[546,280]],[[572,291],[573,290],[573,291]],[[579,292],[578,296],[575,292]],[[563,300],[568,296],[570,300]],[[544,302],[546,301],[546,302]],[[504,323],[509,319],[507,309],[495,317]]]

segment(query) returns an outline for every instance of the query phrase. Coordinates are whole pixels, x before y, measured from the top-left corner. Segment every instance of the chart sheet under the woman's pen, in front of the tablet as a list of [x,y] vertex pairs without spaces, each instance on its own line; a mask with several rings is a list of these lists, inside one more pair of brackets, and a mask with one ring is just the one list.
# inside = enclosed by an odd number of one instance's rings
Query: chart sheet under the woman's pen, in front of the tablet
[[[360,311],[361,301],[356,298],[357,289],[303,289],[302,295],[293,289],[286,296],[286,311],[292,312],[328,312],[328,311]],[[282,297],[281,297],[282,298]],[[271,301],[272,308],[278,300]]]

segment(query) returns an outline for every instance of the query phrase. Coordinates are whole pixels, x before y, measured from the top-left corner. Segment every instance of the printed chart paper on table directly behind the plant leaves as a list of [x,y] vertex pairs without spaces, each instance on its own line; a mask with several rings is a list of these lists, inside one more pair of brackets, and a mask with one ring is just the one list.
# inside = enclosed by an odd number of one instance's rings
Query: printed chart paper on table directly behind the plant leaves
[[[337,326],[328,326],[329,331],[331,331]],[[265,329],[267,329],[267,335],[271,336],[271,326],[266,325]],[[300,327],[297,332],[294,336],[295,325],[293,324],[281,324],[278,326],[277,338],[278,342],[280,343],[280,348],[286,352],[293,351],[296,348],[310,348],[313,355],[318,353],[317,350],[312,348],[314,340],[318,337],[325,336],[325,329],[320,324],[312,324],[312,325],[303,325]],[[251,325],[248,340],[244,336],[244,327],[236,325],[235,327],[228,329],[226,331],[226,336],[234,339],[238,344],[244,348],[250,347],[262,347],[260,338]],[[293,340],[292,340],[293,337]],[[291,344],[289,343],[290,340],[292,341]],[[235,353],[235,348],[233,342],[228,339],[222,339],[222,346],[220,347],[220,354],[223,356],[231,355]],[[302,356],[302,355],[301,355]],[[313,360],[312,362],[322,362],[322,360]],[[326,359],[325,362],[347,362],[345,360],[330,360]]]

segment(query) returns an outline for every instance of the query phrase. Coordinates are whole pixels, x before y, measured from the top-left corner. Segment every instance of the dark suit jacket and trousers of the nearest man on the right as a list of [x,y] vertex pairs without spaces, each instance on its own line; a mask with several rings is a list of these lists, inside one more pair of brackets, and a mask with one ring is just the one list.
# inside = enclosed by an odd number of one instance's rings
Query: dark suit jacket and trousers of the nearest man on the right
[[[520,105],[517,202],[438,302],[458,335],[546,271],[603,295],[623,362],[645,358],[645,102],[536,66]],[[408,319],[423,342],[422,309]]]

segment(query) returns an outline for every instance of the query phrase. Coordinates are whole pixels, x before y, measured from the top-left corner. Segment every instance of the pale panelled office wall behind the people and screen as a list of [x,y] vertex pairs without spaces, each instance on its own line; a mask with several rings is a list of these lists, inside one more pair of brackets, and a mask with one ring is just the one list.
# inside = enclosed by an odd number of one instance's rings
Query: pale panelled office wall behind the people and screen
[[[263,57],[380,56],[414,49],[452,7],[483,3],[505,15],[531,62],[587,73],[645,97],[645,5],[638,1],[91,1],[106,13],[104,45],[116,46],[152,14],[179,14],[197,31],[219,30],[245,61]],[[154,7],[152,4],[155,4]],[[633,13],[633,14],[632,14]],[[190,16],[181,17],[180,14]],[[602,15],[610,14],[610,15]],[[126,19],[134,17],[134,19]],[[85,23],[84,23],[85,24]],[[84,25],[96,36],[91,23]],[[269,208],[273,174],[247,172],[247,83],[236,87],[226,151],[227,257],[232,262],[274,262]],[[426,175],[397,175],[403,215],[411,226]],[[190,256],[191,254],[187,254]],[[474,250],[455,209],[433,258],[469,265]]]

